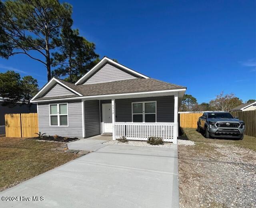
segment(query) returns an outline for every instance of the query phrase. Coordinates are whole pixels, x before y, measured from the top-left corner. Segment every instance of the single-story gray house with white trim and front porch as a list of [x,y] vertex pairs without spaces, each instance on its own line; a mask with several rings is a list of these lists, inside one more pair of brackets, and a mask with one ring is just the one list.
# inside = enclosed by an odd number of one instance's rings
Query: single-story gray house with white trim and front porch
[[88,138],[112,133],[177,143],[178,107],[186,87],[138,73],[104,57],[75,84],[52,78],[31,100],[39,131]]

